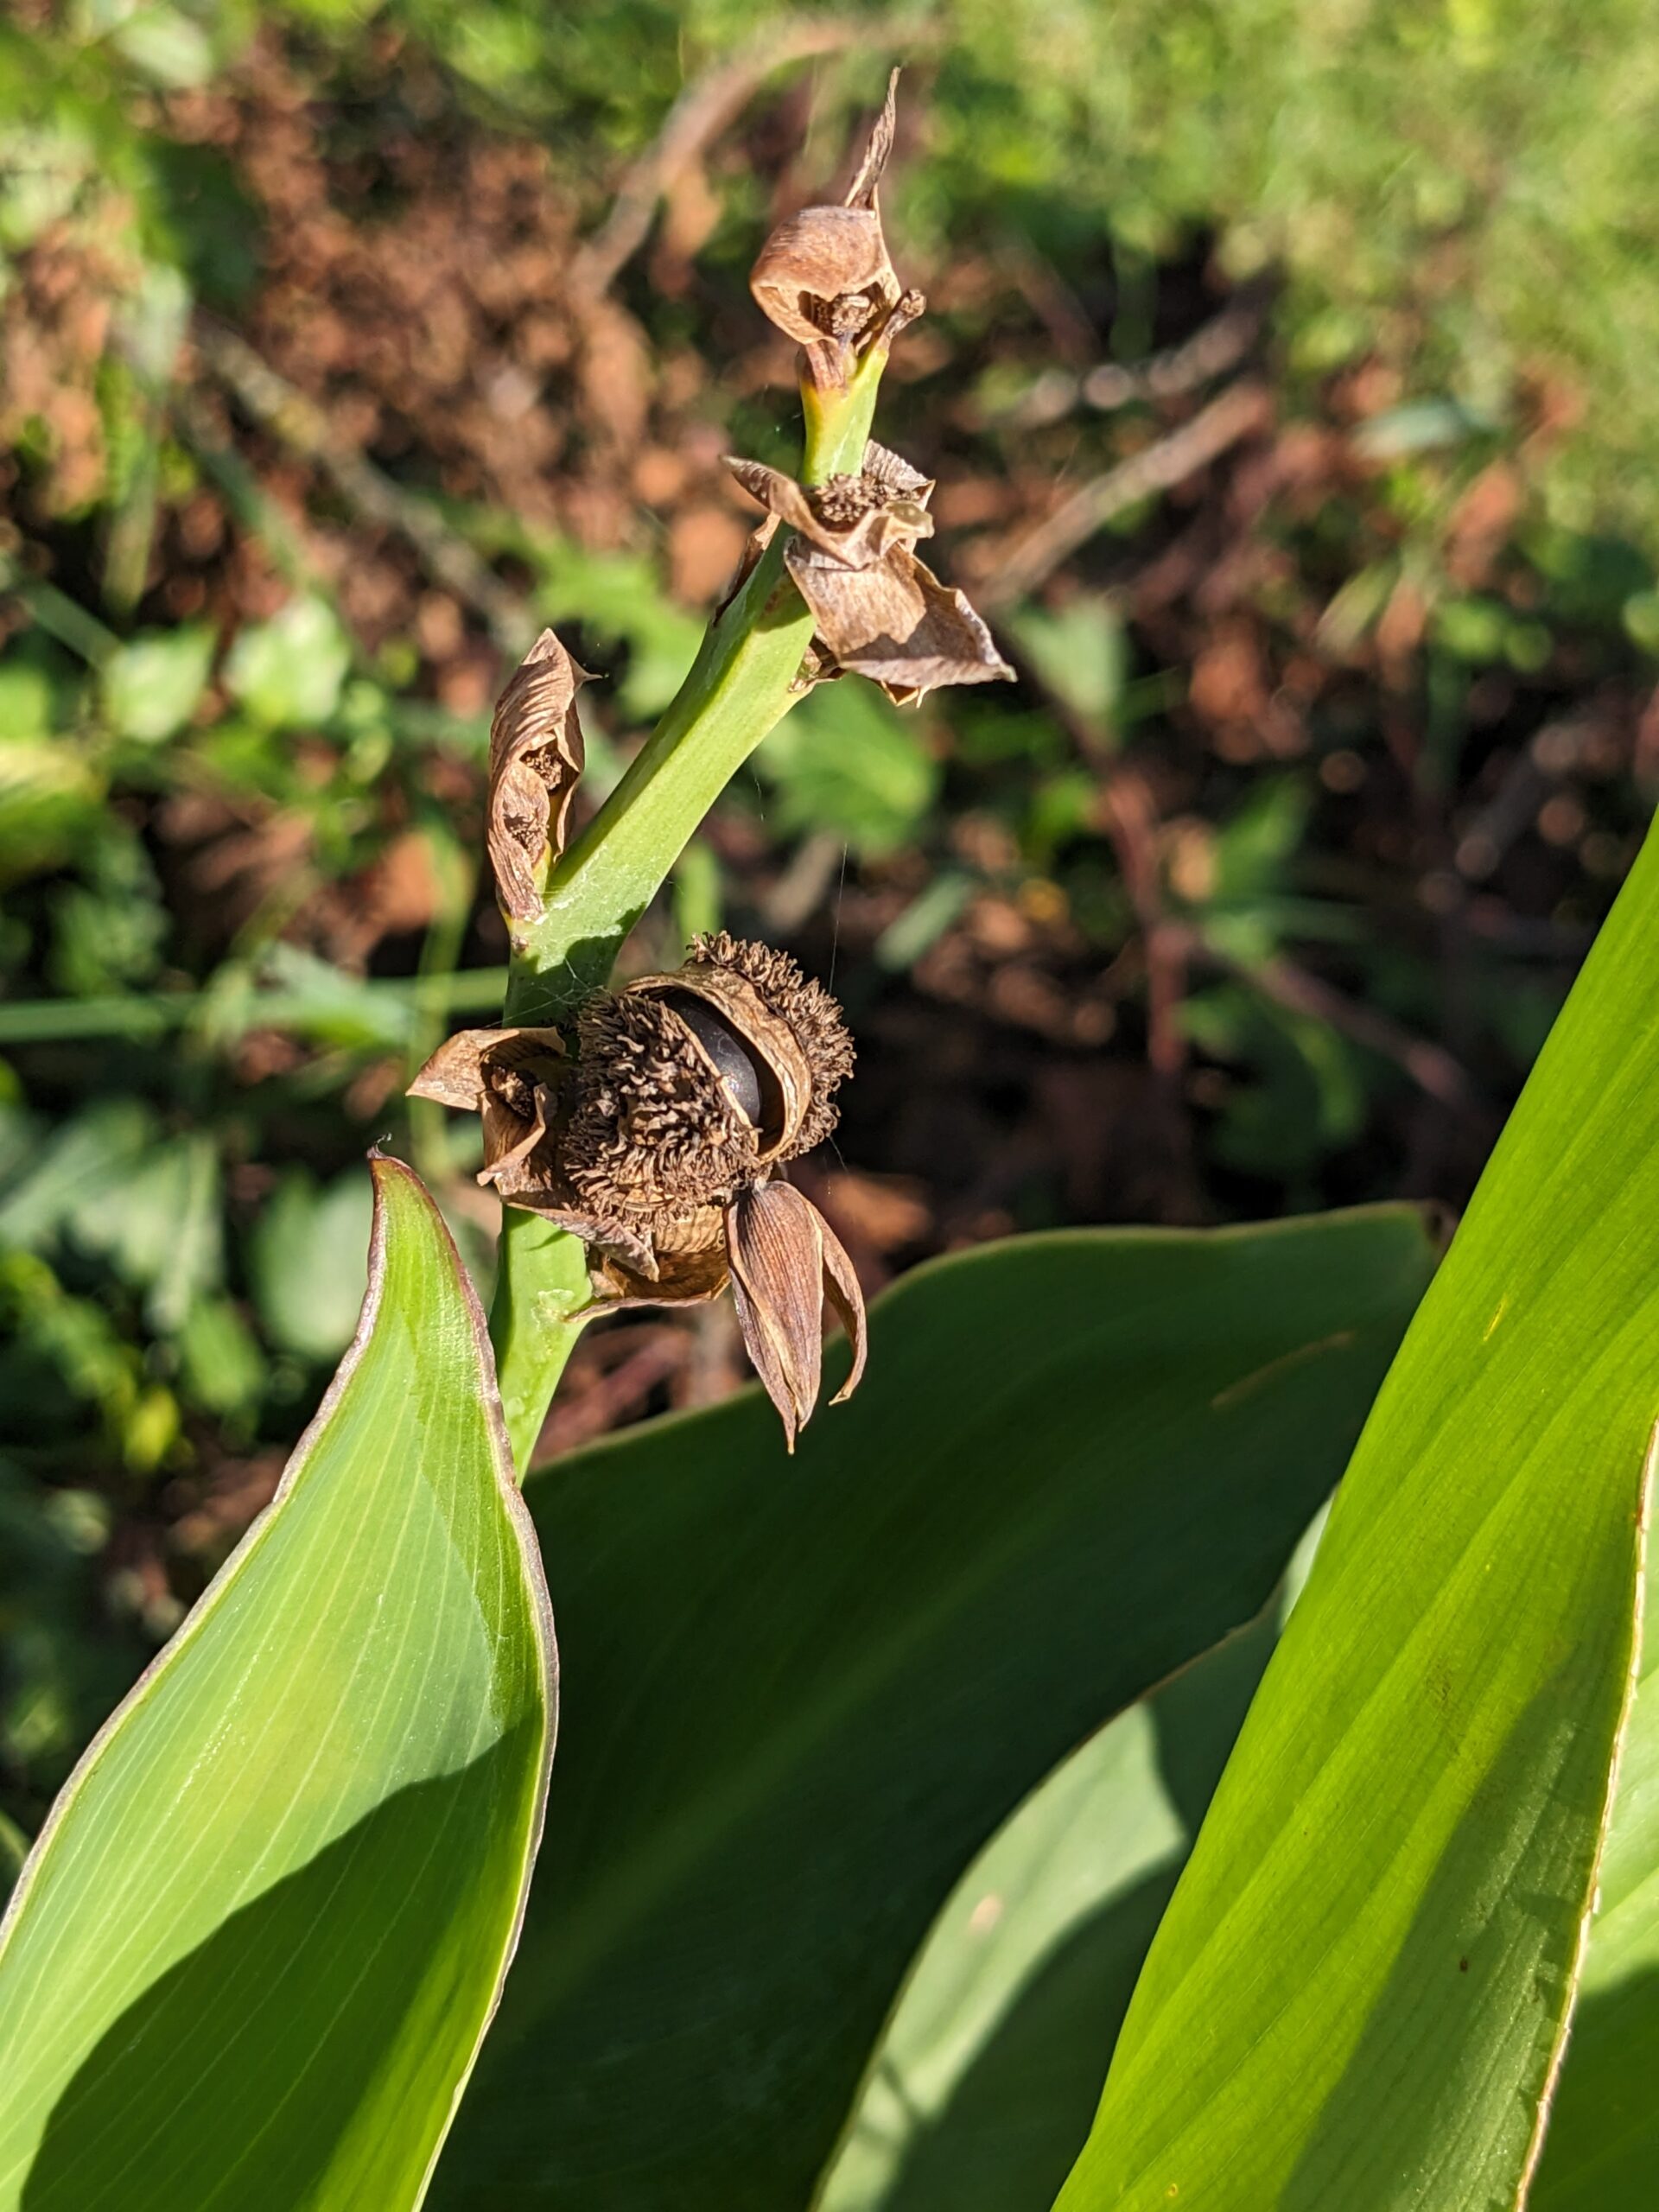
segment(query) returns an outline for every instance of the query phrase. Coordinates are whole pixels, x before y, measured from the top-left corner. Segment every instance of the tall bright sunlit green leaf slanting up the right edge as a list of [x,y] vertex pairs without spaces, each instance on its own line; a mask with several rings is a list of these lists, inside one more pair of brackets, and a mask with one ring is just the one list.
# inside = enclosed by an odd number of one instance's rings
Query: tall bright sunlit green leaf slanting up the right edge
[[1650,841],[1365,1429],[1064,2212],[1524,2194],[1637,1646],[1657,953]]

